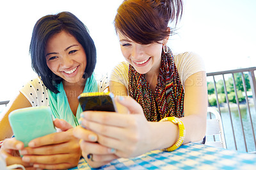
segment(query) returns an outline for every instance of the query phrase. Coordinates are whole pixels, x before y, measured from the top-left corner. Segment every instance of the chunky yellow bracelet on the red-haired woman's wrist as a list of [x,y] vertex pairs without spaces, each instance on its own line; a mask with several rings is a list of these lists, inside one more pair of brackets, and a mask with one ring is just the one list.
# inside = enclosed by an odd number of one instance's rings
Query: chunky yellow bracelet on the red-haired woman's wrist
[[179,118],[175,118],[175,117],[166,117],[166,118],[163,118],[160,121],[171,121],[175,125],[178,124],[178,126],[179,126],[179,139],[178,139],[178,141],[175,144],[173,144],[173,146],[170,146],[169,148],[163,149],[163,151],[177,150],[177,148],[180,147],[180,145],[183,143],[184,138],[185,138],[186,131],[185,131],[184,124],[182,123],[182,121]]

